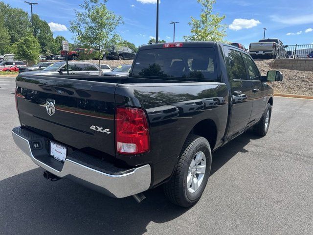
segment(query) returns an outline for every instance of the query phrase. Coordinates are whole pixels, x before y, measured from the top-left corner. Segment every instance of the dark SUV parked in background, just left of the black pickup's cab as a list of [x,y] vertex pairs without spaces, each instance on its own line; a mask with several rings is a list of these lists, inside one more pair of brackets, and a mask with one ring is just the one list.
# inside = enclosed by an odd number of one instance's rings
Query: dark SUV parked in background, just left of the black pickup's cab
[[129,47],[113,46],[106,49],[103,57],[107,60],[133,60],[136,53]]

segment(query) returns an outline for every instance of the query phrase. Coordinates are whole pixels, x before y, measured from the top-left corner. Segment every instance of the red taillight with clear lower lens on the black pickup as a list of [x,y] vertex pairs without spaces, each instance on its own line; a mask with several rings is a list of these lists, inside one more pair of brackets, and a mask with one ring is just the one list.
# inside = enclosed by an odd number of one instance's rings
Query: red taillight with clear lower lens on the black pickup
[[141,109],[116,107],[116,151],[120,154],[141,154],[150,150],[149,127]]

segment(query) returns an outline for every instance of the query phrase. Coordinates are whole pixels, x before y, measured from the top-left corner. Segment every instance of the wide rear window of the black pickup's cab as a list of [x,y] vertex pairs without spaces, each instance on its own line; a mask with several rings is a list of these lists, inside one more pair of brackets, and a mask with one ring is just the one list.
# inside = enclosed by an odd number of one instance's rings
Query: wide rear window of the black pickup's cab
[[214,49],[175,47],[140,50],[132,76],[216,81]]

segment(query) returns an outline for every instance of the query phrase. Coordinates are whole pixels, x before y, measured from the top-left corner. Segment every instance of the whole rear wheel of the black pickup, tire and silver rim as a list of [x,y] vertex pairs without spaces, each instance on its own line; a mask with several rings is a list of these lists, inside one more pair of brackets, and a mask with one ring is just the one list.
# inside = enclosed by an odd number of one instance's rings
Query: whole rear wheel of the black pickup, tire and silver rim
[[211,162],[209,142],[201,136],[189,135],[182,147],[173,176],[164,184],[167,198],[181,207],[195,205],[209,179]]

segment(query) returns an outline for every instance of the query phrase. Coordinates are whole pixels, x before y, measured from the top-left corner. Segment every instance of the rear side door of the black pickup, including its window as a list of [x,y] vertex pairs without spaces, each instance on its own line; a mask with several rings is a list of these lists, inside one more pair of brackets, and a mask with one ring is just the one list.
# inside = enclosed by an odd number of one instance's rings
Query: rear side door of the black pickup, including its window
[[227,138],[244,130],[252,111],[253,85],[247,79],[247,72],[242,53],[231,47],[224,47],[226,69],[230,83],[232,104],[231,119]]

